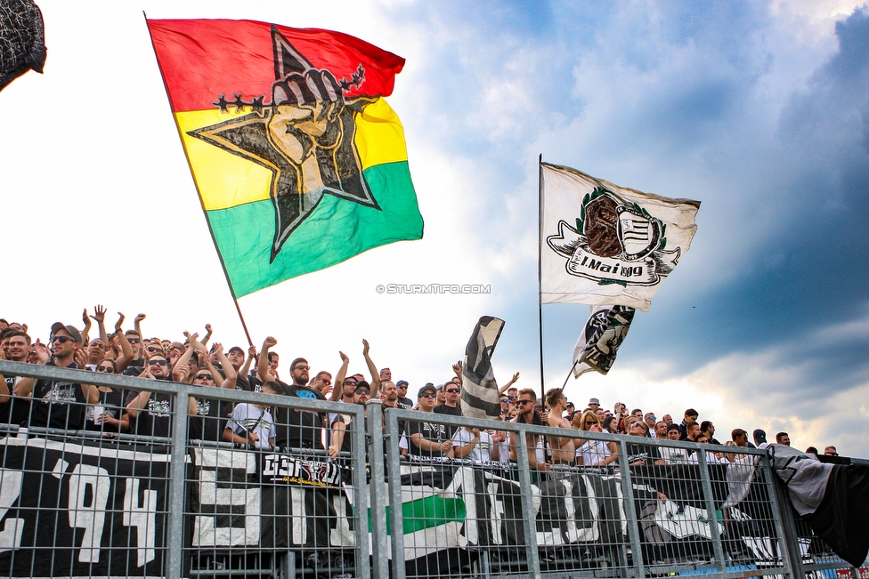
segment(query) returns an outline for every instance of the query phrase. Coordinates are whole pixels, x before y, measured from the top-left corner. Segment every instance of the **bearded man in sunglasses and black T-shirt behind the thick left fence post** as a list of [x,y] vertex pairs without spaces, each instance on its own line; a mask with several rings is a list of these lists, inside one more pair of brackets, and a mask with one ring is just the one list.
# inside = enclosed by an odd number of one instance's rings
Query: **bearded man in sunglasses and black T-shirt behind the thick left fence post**
[[[156,354],[148,358],[139,374],[140,378],[169,382],[169,364],[165,357]],[[135,419],[135,434],[139,436],[172,436],[172,413],[175,410],[175,396],[166,392],[130,392],[126,400],[126,411]],[[196,398],[188,397],[187,413],[195,416],[199,412]]]

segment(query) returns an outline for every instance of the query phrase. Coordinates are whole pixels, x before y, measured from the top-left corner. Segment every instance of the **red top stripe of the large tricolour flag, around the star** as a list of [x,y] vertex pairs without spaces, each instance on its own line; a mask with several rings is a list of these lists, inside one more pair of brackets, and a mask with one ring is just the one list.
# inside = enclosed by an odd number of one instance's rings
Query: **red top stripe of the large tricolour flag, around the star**
[[[274,57],[271,24],[256,20],[148,20],[172,110],[214,109],[221,94],[271,101]],[[360,65],[365,82],[346,97],[388,96],[404,59],[354,36],[319,28],[277,26],[290,44],[339,81]]]

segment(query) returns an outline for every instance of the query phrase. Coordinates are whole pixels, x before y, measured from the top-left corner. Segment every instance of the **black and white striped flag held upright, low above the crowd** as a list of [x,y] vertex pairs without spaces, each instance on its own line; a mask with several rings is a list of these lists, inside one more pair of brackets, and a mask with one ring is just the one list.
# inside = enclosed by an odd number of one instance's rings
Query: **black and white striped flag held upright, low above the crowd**
[[491,372],[491,353],[504,320],[483,316],[465,347],[462,365],[462,414],[471,418],[498,418],[501,412],[498,384]]

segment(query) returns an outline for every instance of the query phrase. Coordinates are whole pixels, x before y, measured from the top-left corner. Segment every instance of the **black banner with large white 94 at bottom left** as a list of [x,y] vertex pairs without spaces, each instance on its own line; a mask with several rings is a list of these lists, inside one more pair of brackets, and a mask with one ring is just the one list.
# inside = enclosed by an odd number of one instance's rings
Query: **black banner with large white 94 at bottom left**
[[0,575],[165,575],[168,460],[0,439]]

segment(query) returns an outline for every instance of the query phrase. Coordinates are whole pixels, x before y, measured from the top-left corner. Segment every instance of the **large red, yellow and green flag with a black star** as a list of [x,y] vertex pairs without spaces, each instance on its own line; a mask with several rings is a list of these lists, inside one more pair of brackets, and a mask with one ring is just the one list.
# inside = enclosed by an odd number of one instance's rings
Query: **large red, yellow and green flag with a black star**
[[404,59],[353,36],[252,20],[148,20],[235,298],[423,233]]

